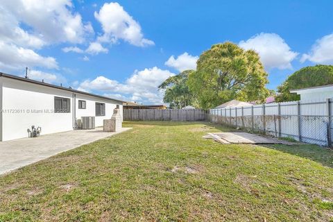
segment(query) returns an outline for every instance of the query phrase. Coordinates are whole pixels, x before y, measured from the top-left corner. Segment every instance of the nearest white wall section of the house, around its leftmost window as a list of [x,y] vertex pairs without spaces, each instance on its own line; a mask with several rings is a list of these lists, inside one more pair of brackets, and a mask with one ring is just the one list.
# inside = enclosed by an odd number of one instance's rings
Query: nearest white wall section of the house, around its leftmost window
[[27,130],[32,125],[42,127],[42,134],[73,129],[71,112],[53,112],[54,96],[71,99],[71,92],[10,78],[2,79],[3,141],[28,137]]

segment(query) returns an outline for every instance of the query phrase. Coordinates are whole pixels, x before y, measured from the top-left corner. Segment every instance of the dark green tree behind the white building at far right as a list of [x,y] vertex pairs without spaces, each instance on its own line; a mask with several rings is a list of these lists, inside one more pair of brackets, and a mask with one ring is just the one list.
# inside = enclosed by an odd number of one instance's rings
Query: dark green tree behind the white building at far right
[[291,89],[302,89],[306,87],[315,87],[319,85],[333,84],[333,66],[316,65],[314,67],[304,67],[287,78],[287,80],[278,87],[278,96],[276,101],[298,101],[300,96],[291,94]]

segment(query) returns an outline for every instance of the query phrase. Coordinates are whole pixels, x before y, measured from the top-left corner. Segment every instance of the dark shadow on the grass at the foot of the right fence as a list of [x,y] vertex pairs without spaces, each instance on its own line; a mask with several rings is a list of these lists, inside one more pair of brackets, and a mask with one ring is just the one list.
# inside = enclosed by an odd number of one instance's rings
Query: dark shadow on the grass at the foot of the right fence
[[282,151],[291,155],[297,155],[298,157],[307,158],[318,162],[323,166],[333,168],[333,150],[330,148],[310,144],[296,144],[292,146],[284,144],[265,144],[262,146],[273,148],[277,151]]

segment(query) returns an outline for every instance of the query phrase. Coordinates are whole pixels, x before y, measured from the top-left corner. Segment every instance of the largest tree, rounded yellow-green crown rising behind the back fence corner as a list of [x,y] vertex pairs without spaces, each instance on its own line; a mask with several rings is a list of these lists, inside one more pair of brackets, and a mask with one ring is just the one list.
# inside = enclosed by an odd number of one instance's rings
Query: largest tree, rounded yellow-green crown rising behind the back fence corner
[[188,80],[200,107],[207,109],[231,99],[264,101],[269,94],[267,83],[258,54],[232,42],[215,44],[201,54]]

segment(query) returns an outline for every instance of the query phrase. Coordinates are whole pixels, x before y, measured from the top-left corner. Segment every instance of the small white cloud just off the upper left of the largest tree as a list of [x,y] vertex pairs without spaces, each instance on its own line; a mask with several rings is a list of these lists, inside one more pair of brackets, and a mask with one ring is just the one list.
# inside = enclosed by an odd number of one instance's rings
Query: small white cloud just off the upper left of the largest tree
[[185,52],[182,55],[175,58],[174,56],[170,56],[169,60],[164,63],[168,67],[173,67],[178,71],[185,71],[189,69],[196,69],[196,61],[198,60],[198,56],[191,56],[189,53]]

